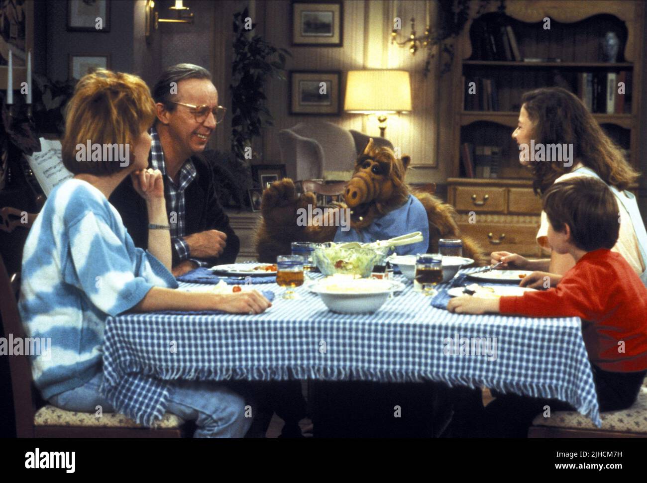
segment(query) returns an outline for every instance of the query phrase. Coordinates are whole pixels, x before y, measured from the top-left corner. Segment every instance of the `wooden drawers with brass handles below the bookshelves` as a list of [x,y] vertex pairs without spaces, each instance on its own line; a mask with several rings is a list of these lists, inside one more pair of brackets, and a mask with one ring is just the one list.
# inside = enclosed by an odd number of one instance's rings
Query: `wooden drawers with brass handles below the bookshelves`
[[547,256],[536,242],[542,201],[532,192],[531,180],[448,178],[447,199],[459,214],[463,234],[487,253]]

